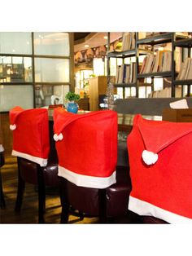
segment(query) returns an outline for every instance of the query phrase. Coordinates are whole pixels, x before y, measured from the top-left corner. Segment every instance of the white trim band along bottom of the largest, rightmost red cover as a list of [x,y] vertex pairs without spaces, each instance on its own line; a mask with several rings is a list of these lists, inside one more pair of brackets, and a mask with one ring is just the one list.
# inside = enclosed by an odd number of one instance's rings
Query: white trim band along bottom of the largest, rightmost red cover
[[154,216],[172,224],[192,224],[192,218],[186,218],[179,214],[173,214],[168,210],[161,209],[133,196],[129,196],[128,209],[136,214]]

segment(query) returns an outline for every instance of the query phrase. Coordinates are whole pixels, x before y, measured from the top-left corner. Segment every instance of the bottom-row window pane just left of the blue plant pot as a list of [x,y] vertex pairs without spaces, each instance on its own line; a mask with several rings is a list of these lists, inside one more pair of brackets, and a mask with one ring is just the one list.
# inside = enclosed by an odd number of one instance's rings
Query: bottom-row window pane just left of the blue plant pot
[[52,86],[36,85],[35,86],[35,103],[37,108],[53,104],[65,104],[65,95],[69,91],[69,85]]

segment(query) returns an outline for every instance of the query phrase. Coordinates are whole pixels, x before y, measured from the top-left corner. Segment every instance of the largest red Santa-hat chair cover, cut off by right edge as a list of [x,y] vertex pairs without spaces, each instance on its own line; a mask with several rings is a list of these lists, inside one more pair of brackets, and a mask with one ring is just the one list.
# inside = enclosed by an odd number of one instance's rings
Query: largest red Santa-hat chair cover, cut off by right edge
[[[133,186],[129,210],[168,223],[192,223],[192,123],[137,115],[127,143]],[[155,159],[146,160],[144,150]]]

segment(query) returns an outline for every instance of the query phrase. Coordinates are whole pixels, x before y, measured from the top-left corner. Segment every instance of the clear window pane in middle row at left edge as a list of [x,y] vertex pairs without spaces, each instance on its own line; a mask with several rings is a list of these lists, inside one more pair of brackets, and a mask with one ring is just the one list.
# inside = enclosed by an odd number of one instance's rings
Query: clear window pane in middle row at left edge
[[32,58],[0,56],[0,82],[33,82]]

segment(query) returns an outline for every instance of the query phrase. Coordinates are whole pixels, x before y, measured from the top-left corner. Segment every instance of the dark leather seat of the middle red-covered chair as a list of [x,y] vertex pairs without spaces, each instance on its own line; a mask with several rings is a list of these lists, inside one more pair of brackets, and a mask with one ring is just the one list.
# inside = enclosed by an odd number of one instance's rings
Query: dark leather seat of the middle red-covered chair
[[[129,192],[131,183],[129,170],[117,167],[116,183],[106,189],[107,217],[128,214]],[[89,215],[98,215],[98,189],[78,187],[68,182],[68,199],[72,208]]]

